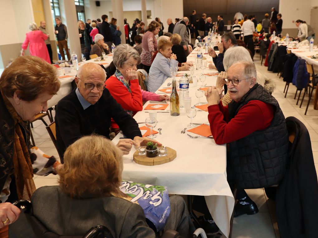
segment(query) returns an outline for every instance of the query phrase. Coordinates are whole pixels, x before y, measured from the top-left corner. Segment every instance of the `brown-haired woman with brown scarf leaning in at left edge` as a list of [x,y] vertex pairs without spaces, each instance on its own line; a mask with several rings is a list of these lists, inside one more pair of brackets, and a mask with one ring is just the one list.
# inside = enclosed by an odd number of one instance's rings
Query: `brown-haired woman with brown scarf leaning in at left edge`
[[[9,202],[29,200],[35,191],[30,159],[30,123],[47,110],[60,87],[55,67],[36,56],[18,57],[0,78],[0,228],[17,220]],[[3,228],[4,227],[4,228]],[[2,233],[3,230],[0,230]],[[5,236],[3,236],[5,237]]]

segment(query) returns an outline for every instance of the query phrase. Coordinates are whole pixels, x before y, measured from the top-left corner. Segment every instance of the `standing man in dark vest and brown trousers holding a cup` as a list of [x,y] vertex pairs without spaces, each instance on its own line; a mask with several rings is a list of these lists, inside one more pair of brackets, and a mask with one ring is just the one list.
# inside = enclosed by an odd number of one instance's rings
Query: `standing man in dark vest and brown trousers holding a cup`
[[62,24],[61,18],[55,18],[56,26],[55,26],[55,35],[58,40],[59,52],[63,60],[65,60],[64,50],[67,55],[67,60],[71,60],[70,52],[68,51],[67,46],[67,28],[66,25]]

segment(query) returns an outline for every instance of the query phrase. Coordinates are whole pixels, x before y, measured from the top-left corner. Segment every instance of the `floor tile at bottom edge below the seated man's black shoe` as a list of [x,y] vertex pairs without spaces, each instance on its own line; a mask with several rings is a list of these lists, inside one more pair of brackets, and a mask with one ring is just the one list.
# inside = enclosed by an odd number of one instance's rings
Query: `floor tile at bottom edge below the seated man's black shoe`
[[233,238],[275,238],[270,213],[242,215],[234,218]]

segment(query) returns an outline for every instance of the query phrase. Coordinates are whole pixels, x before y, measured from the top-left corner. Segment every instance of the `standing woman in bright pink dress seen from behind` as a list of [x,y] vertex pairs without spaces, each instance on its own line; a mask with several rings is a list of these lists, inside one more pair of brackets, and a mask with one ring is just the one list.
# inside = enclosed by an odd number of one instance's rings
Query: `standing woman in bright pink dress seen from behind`
[[51,64],[49,52],[44,42],[49,35],[45,35],[42,31],[38,30],[37,24],[34,22],[30,23],[29,29],[31,31],[26,33],[24,43],[22,44],[21,56],[24,56],[24,50],[28,48],[30,43],[30,54],[38,56]]

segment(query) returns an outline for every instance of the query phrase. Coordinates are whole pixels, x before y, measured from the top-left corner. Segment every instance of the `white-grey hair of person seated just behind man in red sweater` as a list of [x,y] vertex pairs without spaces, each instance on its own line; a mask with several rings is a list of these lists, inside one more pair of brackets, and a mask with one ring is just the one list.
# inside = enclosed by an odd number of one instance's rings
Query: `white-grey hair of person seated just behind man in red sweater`
[[225,71],[227,71],[233,63],[238,61],[253,63],[250,53],[243,46],[232,46],[225,51],[223,59]]

